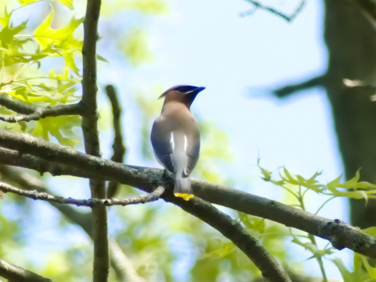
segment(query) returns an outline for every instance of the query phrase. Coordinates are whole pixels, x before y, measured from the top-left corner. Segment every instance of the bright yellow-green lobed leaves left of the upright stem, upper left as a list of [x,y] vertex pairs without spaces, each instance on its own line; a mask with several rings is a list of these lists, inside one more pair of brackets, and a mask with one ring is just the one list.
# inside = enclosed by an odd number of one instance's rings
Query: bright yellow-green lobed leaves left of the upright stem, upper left
[[[18,8],[0,17],[0,97],[31,107],[49,107],[71,104],[79,100],[76,95],[81,80],[79,68],[74,57],[82,49],[82,40],[74,37],[73,32],[83,22],[83,18],[72,18],[61,29],[52,29],[54,10],[36,27],[32,34],[25,34],[27,20],[19,25],[12,23],[12,15],[18,9],[33,4],[35,0],[21,0]],[[73,8],[71,0],[61,1]],[[44,67],[46,59],[59,60],[55,69]],[[46,64],[47,65],[47,64]],[[14,112],[0,107],[0,113],[14,115]],[[18,122],[6,124],[6,128],[28,132],[49,140],[55,137],[62,145],[73,146],[77,136],[72,128],[80,125],[78,116],[45,118],[36,122]]]

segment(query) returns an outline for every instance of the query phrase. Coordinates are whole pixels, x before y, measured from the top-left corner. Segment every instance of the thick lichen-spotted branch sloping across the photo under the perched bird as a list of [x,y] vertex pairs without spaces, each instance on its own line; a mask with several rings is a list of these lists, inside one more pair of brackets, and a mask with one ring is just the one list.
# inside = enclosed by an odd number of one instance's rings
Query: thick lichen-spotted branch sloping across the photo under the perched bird
[[[40,158],[79,167],[82,171],[76,170],[75,173],[77,175],[83,176],[85,175],[85,171],[96,173],[97,177],[118,181],[149,193],[152,192],[154,187],[162,185],[166,188],[166,191],[161,198],[165,199],[165,195],[172,195],[173,181],[171,175],[167,174],[167,177],[164,178],[162,169],[126,166],[85,155],[74,149],[52,144],[28,134],[14,133],[1,129],[0,146],[13,150],[22,149],[23,152],[36,155]],[[0,161],[4,162],[1,151]],[[21,163],[21,161],[19,162]],[[27,163],[25,162],[24,165],[20,165],[26,166]],[[43,172],[47,172],[48,167],[44,168],[47,170]],[[251,195],[223,185],[197,179],[191,179],[191,181],[195,195],[208,202],[306,231],[331,241],[337,249],[347,247],[362,255],[376,259],[376,239],[344,222],[325,219],[277,201]],[[178,200],[178,198],[174,197],[168,198],[168,201],[174,204]]]

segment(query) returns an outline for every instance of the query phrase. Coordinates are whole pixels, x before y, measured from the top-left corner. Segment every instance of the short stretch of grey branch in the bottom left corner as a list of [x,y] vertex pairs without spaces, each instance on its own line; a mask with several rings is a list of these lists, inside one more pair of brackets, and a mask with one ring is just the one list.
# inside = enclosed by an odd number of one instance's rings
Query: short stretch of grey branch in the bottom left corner
[[32,271],[10,264],[0,259],[0,276],[9,281],[17,282],[52,282],[51,279],[42,277]]

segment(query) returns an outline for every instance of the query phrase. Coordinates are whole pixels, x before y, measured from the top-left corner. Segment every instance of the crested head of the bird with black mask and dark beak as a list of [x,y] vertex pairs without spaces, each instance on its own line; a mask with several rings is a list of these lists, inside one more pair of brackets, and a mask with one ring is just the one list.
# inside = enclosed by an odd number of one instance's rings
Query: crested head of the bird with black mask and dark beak
[[178,101],[185,104],[189,109],[194,98],[196,98],[197,94],[204,89],[205,87],[177,85],[167,89],[161,96],[159,96],[159,98],[165,97],[164,104],[170,101]]

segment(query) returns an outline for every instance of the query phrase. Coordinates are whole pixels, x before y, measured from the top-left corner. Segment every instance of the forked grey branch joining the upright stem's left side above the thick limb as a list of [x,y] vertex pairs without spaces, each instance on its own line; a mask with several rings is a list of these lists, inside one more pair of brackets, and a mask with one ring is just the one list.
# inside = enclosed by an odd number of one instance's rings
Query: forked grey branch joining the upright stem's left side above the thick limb
[[[1,100],[3,99],[3,100]],[[0,97],[0,104],[2,101],[4,101],[4,97]],[[12,103],[9,103],[12,102]],[[63,105],[63,106],[54,106],[54,107],[45,107],[45,108],[39,108],[39,107],[30,107],[30,106],[24,106],[21,104],[18,104],[17,102],[8,101],[9,106],[15,106],[15,107],[9,107],[11,110],[18,111],[20,110],[21,113],[24,113],[22,116],[12,116],[12,115],[2,115],[0,114],[0,120],[6,121],[10,123],[19,122],[19,121],[37,121],[41,118],[47,118],[48,116],[66,116],[66,115],[79,115],[82,112],[82,106],[80,103],[77,104],[69,104],[69,105]],[[4,105],[5,106],[5,105]]]

